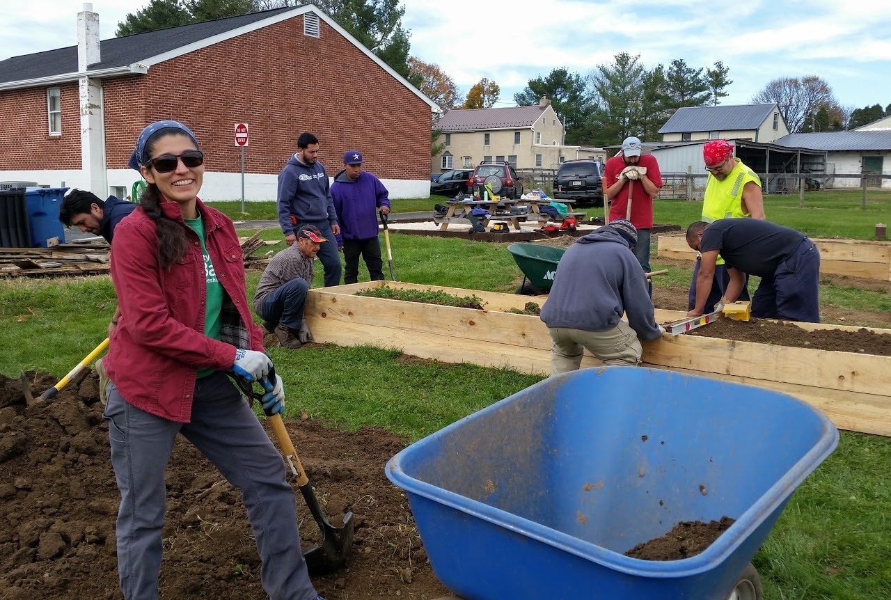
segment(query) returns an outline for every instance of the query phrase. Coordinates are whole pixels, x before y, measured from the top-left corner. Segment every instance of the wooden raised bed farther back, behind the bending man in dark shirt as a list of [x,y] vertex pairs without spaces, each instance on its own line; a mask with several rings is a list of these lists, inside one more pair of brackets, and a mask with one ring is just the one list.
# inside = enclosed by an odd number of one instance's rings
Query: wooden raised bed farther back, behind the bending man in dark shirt
[[[891,281],[891,242],[816,238],[813,243],[823,274]],[[696,259],[684,235],[659,235],[657,249],[660,259]]]

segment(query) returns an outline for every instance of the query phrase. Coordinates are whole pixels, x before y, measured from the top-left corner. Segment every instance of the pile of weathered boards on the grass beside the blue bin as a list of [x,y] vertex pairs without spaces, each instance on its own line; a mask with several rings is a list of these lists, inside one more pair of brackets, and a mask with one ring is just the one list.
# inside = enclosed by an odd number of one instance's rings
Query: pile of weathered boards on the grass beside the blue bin
[[[277,242],[272,242],[277,243]],[[269,245],[259,233],[241,240],[241,255],[246,267],[256,267],[268,260],[251,256]],[[0,248],[0,277],[50,277],[58,275],[94,275],[109,272],[110,246],[97,243],[62,243],[52,248]]]

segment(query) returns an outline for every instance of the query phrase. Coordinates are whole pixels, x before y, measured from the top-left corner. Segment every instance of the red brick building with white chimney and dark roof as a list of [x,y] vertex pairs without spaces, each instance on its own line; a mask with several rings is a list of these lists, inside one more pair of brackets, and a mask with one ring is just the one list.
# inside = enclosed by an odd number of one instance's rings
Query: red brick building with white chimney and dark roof
[[391,197],[429,194],[435,103],[311,4],[159,29],[100,42],[92,4],[78,45],[0,62],[0,180],[124,196],[145,125],[176,119],[206,152],[205,200],[241,198],[236,123],[249,124],[245,196],[274,200],[297,136],[319,137],[329,175],[343,152]]

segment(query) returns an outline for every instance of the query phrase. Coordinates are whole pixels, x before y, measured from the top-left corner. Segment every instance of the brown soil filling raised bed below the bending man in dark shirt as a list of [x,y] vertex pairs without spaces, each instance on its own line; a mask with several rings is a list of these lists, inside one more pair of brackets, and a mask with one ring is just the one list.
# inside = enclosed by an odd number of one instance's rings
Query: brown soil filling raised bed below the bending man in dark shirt
[[775,323],[764,319],[752,319],[748,322],[720,319],[683,335],[891,357],[891,334],[875,333],[869,329],[824,329],[809,332],[791,323]]

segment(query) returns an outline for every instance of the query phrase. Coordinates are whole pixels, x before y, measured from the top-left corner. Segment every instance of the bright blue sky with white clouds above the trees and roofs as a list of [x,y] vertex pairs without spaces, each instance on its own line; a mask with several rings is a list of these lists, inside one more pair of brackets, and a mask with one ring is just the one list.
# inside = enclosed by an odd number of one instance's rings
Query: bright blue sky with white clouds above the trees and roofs
[[[8,2],[0,60],[77,44],[78,0]],[[147,0],[95,0],[102,39]],[[479,78],[501,86],[498,106],[530,78],[566,67],[587,76],[617,53],[647,67],[683,58],[723,61],[733,83],[723,104],[748,103],[773,78],[818,75],[839,103],[891,103],[891,2],[838,0],[403,0],[412,54],[434,62],[463,94]]]

